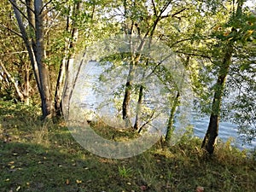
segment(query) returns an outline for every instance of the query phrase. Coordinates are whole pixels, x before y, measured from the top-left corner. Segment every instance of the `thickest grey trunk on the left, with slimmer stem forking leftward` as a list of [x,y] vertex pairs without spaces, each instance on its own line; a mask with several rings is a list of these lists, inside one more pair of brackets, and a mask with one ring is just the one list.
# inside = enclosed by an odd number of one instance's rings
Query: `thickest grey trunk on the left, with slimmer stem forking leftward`
[[[44,49],[44,5],[42,0],[26,0],[26,13],[23,13],[15,0],[9,0],[13,5],[15,18],[18,22],[20,33],[26,44],[38,90],[41,97],[43,118],[53,115],[53,103],[50,90],[49,68],[46,63]],[[24,21],[26,19],[26,21]],[[26,30],[26,23],[29,30]]]

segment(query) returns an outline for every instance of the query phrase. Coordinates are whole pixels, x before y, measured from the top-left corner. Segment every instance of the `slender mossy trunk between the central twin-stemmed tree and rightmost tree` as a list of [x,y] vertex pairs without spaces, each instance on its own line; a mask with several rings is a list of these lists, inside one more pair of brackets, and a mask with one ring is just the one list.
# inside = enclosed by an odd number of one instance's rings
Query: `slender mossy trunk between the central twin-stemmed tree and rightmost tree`
[[168,119],[168,124],[166,127],[166,141],[165,141],[166,146],[170,145],[172,134],[174,131],[174,129],[173,129],[174,115],[175,115],[177,107],[179,105],[179,97],[180,97],[180,93],[179,93],[179,91],[177,91],[177,95],[174,98],[174,101],[172,104],[172,109],[171,109],[169,119]]

